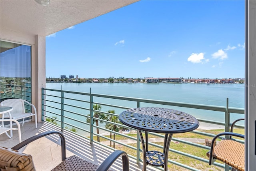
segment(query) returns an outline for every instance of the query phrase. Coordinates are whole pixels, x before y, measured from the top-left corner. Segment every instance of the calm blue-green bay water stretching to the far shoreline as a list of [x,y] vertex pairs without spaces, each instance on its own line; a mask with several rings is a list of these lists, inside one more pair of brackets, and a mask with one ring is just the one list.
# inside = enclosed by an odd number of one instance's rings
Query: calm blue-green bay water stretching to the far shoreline
[[[244,108],[245,84],[169,84],[169,83],[46,83],[46,88],[155,99],[182,103]],[[125,103],[125,102],[124,102]],[[119,104],[118,104],[119,105]],[[123,105],[127,106],[127,105]],[[184,111],[196,118],[224,122],[224,113],[192,108],[172,107]],[[106,111],[106,109],[103,109]],[[120,111],[116,111],[120,113]],[[231,113],[230,120],[244,117]],[[238,123],[243,125],[243,123]]]

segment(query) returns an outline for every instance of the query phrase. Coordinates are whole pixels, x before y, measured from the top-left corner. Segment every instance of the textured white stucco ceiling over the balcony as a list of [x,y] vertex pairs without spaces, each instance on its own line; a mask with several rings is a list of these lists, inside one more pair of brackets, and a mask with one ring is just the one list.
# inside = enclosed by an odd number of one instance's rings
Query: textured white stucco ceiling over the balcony
[[48,36],[138,0],[0,0],[0,26],[28,35]]

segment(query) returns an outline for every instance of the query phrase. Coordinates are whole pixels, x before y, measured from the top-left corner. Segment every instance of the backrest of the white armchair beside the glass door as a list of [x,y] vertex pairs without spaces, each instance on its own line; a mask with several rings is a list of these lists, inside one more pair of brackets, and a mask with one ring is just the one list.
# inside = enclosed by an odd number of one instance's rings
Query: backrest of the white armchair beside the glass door
[[14,113],[25,113],[24,101],[22,99],[7,99],[1,102],[1,106],[12,107],[11,114]]

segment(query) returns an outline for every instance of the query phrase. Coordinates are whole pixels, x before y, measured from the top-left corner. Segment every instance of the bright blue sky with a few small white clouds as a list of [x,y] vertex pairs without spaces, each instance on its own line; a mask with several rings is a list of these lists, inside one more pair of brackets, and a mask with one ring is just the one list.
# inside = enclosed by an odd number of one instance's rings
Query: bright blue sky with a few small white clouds
[[46,37],[46,77],[244,78],[244,1],[139,1]]

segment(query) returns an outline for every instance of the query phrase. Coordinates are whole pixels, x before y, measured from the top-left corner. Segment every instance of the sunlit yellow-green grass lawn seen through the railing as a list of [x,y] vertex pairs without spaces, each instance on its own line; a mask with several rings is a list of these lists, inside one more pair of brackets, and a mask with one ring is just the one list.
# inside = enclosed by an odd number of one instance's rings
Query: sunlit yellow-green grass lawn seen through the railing
[[[212,133],[212,134],[218,134],[218,133],[224,132],[223,129],[197,130],[197,131],[202,131],[202,132]],[[236,128],[236,129],[234,129],[234,132],[244,134],[244,129]],[[137,136],[136,134],[128,134],[128,135],[131,136],[131,137],[136,137]],[[106,135],[106,137],[110,137],[110,135]],[[148,137],[149,138],[157,138],[158,136],[149,134]],[[177,133],[177,134],[174,134],[173,137],[176,137],[176,138],[184,138],[184,137],[186,137],[186,138],[199,138],[199,139],[209,139],[209,140],[212,139],[212,137],[199,135],[199,134],[192,133],[192,132]],[[113,134],[112,134],[112,138],[113,138]],[[116,135],[116,140],[122,140],[122,139],[127,139],[127,138],[123,137],[121,135]],[[94,137],[94,141],[97,141],[97,137]],[[100,137],[100,141],[107,141],[107,140]],[[163,142],[157,142],[155,144],[163,145]],[[201,144],[204,145],[204,143],[201,143]],[[113,143],[112,143],[112,145],[113,145]],[[131,145],[133,147],[136,147],[136,143],[132,143],[132,144],[129,144],[129,145]],[[140,147],[140,148],[142,149],[142,147]],[[136,150],[130,149],[130,148],[125,147],[123,145],[119,145],[119,144],[116,143],[116,149],[126,151],[126,153],[128,153],[128,154],[130,154],[132,156],[136,156]],[[192,145],[188,145],[188,144],[184,144],[184,143],[174,143],[173,141],[171,141],[170,149],[174,149],[174,150],[177,150],[177,151],[188,153],[190,155],[195,155],[197,157],[202,157],[202,158],[208,160],[208,157],[206,156],[206,153],[209,151],[208,149],[202,149],[202,148],[194,147]],[[149,145],[149,150],[150,151],[151,150],[156,150],[156,151],[161,151],[162,152],[162,149],[160,149],[158,147],[154,147],[152,145]],[[140,153],[140,159],[143,159],[143,154],[142,153]],[[222,171],[222,170],[224,170],[220,167],[216,167],[216,166],[213,166],[213,165],[210,166],[210,165],[208,165],[208,163],[201,162],[201,161],[198,161],[196,159],[192,159],[191,157],[186,157],[186,156],[180,155],[178,153],[174,153],[172,151],[169,151],[168,159],[176,161],[178,163],[182,163],[184,165],[188,165],[190,167],[193,167],[193,168],[196,168],[196,169],[199,169],[199,170],[203,170],[203,171]],[[218,162],[218,161],[215,161],[215,162]],[[174,165],[174,164],[169,162],[168,163],[168,170],[171,170],[171,171],[177,171],[177,170],[178,171],[186,171],[188,169],[185,169],[183,167],[179,167],[178,165]]]

